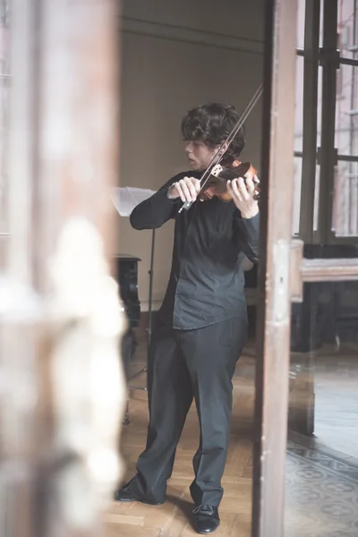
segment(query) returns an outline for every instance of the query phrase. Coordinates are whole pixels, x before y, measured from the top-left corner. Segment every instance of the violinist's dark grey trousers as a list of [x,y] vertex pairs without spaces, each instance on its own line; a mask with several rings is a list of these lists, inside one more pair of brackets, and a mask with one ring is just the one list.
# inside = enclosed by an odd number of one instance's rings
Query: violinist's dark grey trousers
[[196,505],[217,507],[223,496],[232,411],[232,379],[247,334],[246,320],[234,318],[195,330],[175,330],[158,322],[148,363],[149,430],[131,490],[159,503],[186,415],[195,400],[200,445],[193,457],[191,485]]

